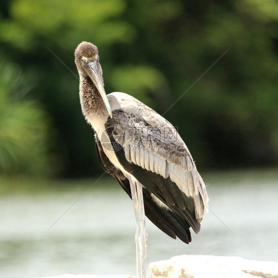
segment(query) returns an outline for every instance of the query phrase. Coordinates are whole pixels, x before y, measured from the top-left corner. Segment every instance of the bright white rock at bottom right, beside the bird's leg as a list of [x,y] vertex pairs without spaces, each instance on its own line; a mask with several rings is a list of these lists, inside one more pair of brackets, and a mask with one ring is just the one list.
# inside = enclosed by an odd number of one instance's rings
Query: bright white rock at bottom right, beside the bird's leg
[[151,278],[278,278],[278,263],[182,255],[149,265]]

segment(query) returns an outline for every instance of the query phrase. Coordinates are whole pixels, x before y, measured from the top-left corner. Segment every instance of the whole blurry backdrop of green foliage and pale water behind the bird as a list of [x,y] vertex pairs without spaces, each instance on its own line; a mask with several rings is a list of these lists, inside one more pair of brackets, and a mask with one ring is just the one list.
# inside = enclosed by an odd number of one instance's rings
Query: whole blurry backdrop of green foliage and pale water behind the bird
[[181,248],[278,261],[276,0],[1,0],[0,276],[136,273],[132,205],[108,176],[46,232],[103,172],[79,105],[82,41],[98,47],[107,94],[131,94],[161,114],[229,48],[164,117],[232,232],[210,213],[188,247],[150,225],[161,239],[149,240],[148,260]]

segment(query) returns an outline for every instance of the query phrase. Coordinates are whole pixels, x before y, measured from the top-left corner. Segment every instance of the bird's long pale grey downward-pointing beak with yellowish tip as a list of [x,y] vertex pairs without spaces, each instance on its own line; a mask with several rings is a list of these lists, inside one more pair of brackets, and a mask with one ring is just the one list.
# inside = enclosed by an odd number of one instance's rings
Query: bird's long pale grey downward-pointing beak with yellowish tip
[[87,63],[83,64],[83,67],[86,70],[89,77],[91,78],[91,80],[93,81],[94,86],[97,88],[98,92],[100,93],[100,96],[103,99],[105,107],[106,107],[110,117],[112,118],[112,110],[111,110],[109,101],[107,99],[105,90],[103,88],[102,79],[101,79],[100,72],[99,72],[98,61],[94,60],[92,62],[87,62]]

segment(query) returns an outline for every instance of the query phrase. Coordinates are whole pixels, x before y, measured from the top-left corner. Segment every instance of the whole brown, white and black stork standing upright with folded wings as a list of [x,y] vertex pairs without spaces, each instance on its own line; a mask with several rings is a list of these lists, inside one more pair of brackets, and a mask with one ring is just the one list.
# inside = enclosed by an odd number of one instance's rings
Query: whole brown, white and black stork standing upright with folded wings
[[145,216],[170,237],[191,242],[208,210],[206,185],[174,126],[131,95],[106,95],[98,49],[75,50],[82,113],[93,127],[96,153],[133,201],[138,278],[146,277]]

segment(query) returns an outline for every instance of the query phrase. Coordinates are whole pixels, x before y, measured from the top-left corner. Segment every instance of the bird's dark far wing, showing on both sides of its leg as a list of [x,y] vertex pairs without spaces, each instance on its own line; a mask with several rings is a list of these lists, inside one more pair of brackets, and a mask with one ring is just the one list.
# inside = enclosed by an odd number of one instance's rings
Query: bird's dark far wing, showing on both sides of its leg
[[[128,178],[126,178],[124,174],[109,161],[103,152],[102,145],[96,133],[95,148],[101,167],[118,181],[124,191],[132,199],[130,182]],[[191,242],[189,225],[183,218],[179,217],[179,215],[171,212],[170,210],[165,210],[159,207],[152,199],[150,191],[146,188],[143,188],[143,199],[145,215],[151,222],[153,222],[158,228],[160,228],[172,238],[176,238],[178,236],[187,244]]]

